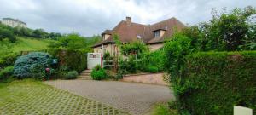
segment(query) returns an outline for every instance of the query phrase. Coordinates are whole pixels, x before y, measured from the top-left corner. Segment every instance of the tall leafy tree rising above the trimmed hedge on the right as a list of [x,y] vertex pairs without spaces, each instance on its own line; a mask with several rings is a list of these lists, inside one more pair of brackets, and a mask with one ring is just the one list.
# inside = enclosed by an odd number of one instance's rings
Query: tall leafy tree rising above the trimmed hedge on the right
[[[205,50],[236,50],[240,45],[246,43],[248,37],[255,36],[255,23],[249,20],[256,14],[256,9],[247,7],[245,9],[234,9],[230,13],[218,14],[213,10],[213,18],[209,23],[201,25],[204,36],[202,43]],[[250,30],[251,29],[251,30]],[[254,30],[254,31],[253,31]],[[251,35],[253,34],[253,35]],[[254,39],[254,38],[253,38]]]

